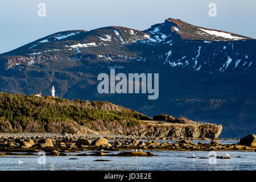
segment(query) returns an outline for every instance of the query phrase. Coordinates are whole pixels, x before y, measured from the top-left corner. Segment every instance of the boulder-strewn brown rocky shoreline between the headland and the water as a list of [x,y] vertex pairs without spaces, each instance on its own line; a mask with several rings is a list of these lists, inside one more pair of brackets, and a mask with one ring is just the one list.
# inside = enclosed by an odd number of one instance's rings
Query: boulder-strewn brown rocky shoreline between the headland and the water
[[[38,155],[39,151],[46,152],[46,155],[67,156],[71,152],[98,151],[93,154],[77,155],[112,155],[112,156],[154,156],[149,151],[256,151],[255,135],[248,135],[236,144],[221,144],[216,140],[209,140],[208,143],[193,143],[188,138],[179,138],[176,142],[170,140],[175,138],[162,137],[161,142],[157,139],[142,141],[121,136],[102,138],[93,136],[72,136],[69,134],[1,134],[0,155],[17,155],[15,152],[22,152],[22,155]],[[169,142],[168,142],[169,141]],[[128,151],[119,154],[108,154],[109,151]],[[20,155],[20,154],[19,154]]]

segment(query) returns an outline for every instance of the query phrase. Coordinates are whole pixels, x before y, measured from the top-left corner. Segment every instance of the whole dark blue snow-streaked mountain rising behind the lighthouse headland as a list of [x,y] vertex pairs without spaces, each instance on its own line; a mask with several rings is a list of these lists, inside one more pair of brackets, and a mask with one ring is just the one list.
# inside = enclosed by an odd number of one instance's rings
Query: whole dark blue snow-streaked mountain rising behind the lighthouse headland
[[[125,27],[57,32],[0,55],[0,91],[104,100],[143,114],[223,125],[221,137],[255,131],[256,40],[166,19]],[[159,73],[159,98],[99,94],[100,73]]]

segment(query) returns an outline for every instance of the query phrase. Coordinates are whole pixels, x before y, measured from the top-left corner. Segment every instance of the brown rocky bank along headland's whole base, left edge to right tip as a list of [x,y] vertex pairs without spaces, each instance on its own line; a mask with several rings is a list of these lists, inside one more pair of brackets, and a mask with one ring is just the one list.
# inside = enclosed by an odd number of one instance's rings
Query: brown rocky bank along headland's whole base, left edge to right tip
[[152,125],[141,123],[136,126],[127,126],[127,122],[104,122],[101,119],[81,126],[76,122],[49,122],[47,130],[38,122],[26,122],[20,125],[9,121],[0,121],[0,132],[5,133],[64,133],[68,129],[73,134],[117,134],[134,135],[135,137],[168,137],[168,138],[212,138],[221,134],[222,125],[214,124],[171,124]]

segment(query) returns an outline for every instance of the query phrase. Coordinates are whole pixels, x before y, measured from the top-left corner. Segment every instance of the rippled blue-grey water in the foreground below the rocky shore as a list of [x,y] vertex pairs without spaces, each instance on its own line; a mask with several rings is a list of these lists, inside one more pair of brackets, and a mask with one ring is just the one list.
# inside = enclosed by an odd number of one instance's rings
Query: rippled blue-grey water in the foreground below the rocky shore
[[[93,151],[83,151],[90,153]],[[120,151],[113,151],[116,154]],[[256,152],[254,151],[151,151],[158,156],[119,157],[119,156],[0,156],[0,170],[256,170]],[[214,153],[215,152],[215,153]],[[199,159],[211,155],[230,155],[230,159]],[[77,153],[69,153],[77,154]],[[187,157],[196,156],[195,159]],[[242,158],[237,158],[241,156]],[[70,158],[77,158],[72,160]],[[95,162],[94,160],[110,160]],[[19,160],[23,163],[19,164]],[[39,163],[38,163],[39,161]],[[41,162],[41,163],[40,163]]]

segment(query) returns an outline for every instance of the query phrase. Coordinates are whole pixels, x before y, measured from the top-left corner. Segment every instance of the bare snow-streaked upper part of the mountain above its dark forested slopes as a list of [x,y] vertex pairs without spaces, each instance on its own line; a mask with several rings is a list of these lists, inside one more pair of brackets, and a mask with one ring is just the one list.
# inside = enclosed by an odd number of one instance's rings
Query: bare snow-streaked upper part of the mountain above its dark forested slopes
[[[169,18],[145,31],[113,26],[57,32],[0,57],[6,70],[56,57],[76,61],[157,60],[170,67],[224,72],[255,69],[255,45],[253,38]],[[118,61],[117,64],[116,67],[125,66]]]

